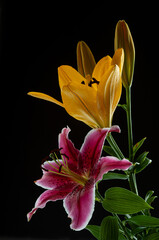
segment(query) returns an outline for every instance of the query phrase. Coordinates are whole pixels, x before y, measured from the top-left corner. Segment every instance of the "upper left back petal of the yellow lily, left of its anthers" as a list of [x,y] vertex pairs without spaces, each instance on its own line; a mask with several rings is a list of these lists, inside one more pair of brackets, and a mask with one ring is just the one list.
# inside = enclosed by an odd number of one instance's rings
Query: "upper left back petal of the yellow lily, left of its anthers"
[[58,68],[58,77],[61,89],[72,82],[81,84],[81,82],[85,81],[85,78],[79,72],[68,65],[62,65]]

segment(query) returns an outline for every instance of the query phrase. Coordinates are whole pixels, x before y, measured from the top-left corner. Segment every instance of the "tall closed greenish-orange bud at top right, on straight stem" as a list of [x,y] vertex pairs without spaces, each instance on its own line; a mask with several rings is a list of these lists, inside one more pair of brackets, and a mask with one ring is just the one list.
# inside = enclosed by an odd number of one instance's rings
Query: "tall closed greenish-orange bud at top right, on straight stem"
[[125,88],[131,87],[135,65],[135,47],[132,35],[124,20],[118,21],[115,29],[114,48],[123,48],[125,61],[122,73],[122,82]]

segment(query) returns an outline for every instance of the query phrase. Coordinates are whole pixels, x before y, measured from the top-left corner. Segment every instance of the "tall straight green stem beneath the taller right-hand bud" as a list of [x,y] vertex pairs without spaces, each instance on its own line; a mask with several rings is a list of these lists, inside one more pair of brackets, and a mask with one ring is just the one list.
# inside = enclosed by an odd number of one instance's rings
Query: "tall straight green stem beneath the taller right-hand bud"
[[[128,144],[129,144],[129,161],[134,162],[133,156],[133,130],[132,130],[132,113],[131,113],[131,87],[126,88],[126,104],[127,104],[127,127],[128,127]],[[134,172],[129,174],[129,185],[132,192],[138,195],[136,175]]]

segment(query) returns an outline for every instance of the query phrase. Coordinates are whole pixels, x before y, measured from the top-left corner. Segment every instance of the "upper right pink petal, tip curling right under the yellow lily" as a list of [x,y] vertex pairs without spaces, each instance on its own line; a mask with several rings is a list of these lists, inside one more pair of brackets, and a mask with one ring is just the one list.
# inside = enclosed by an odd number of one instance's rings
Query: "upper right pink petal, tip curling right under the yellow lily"
[[95,166],[100,158],[105,137],[112,131],[120,132],[120,128],[118,126],[103,129],[98,128],[91,130],[87,134],[80,150],[78,162],[81,171],[87,172]]

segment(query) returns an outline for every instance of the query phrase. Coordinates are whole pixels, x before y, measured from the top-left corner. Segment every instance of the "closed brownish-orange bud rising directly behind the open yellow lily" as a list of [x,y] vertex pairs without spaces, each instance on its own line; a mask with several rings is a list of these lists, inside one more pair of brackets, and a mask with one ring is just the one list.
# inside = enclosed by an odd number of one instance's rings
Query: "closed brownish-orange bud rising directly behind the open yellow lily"
[[84,41],[77,44],[77,68],[78,72],[83,76],[92,76],[93,69],[96,65],[94,56]]

